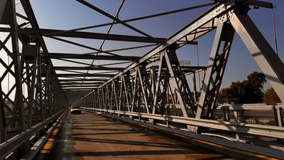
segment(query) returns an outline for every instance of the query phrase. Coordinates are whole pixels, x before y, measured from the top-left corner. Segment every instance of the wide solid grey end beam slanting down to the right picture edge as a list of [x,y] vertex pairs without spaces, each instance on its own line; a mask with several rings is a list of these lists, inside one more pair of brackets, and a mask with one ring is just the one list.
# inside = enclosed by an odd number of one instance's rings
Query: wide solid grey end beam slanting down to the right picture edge
[[234,11],[231,25],[256,60],[258,67],[284,102],[284,64],[247,14]]

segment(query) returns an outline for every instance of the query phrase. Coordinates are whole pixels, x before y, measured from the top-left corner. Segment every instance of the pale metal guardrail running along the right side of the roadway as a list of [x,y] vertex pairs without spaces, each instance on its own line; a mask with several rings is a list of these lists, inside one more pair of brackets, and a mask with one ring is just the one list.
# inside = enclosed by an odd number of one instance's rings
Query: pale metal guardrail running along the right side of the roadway
[[[224,107],[224,105],[220,106],[219,108],[221,107]],[[226,105],[226,107],[228,107],[228,105]],[[267,107],[261,108],[261,110],[263,109],[273,110],[273,108],[283,108],[283,106],[282,107],[267,106]],[[96,108],[88,108],[88,107],[82,107],[82,109],[93,110],[97,112],[107,112],[109,114],[118,114],[121,117],[129,116],[129,117],[138,117],[138,119],[141,119],[141,118],[157,119],[157,120],[162,120],[165,122],[176,122],[180,124],[188,124],[188,125],[194,125],[198,127],[208,127],[210,129],[219,129],[219,130],[224,130],[224,131],[229,131],[229,132],[236,132],[236,134],[239,134],[239,133],[254,134],[258,136],[284,139],[284,127],[279,127],[279,126],[269,126],[269,125],[263,125],[263,124],[248,124],[248,123],[242,123],[242,122],[219,122],[217,120],[209,120],[209,119],[195,119],[191,117],[167,116],[167,115],[160,115],[160,114],[146,114],[146,113],[141,113],[141,112],[125,112],[125,111],[96,109]],[[256,110],[256,108],[253,108],[252,106],[236,107],[233,105],[230,105],[229,109]],[[259,110],[259,107],[258,107],[258,110]]]

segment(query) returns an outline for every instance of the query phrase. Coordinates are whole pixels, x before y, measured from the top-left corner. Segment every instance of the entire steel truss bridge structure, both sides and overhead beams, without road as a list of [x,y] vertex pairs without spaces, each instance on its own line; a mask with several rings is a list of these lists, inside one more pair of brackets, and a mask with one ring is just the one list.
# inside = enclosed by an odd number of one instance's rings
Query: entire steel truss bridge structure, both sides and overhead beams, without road
[[[166,127],[186,129],[197,134],[209,132],[233,137],[236,141],[252,137],[264,142],[283,143],[284,105],[220,104],[219,90],[232,40],[238,34],[266,79],[284,102],[284,65],[268,44],[248,11],[273,4],[254,0],[224,0],[187,9],[121,20],[84,0],[83,6],[111,19],[111,23],[72,30],[40,28],[30,1],[0,1],[0,159],[14,152],[23,154],[31,141],[68,110],[80,106]],[[21,12],[17,11],[21,6]],[[128,22],[159,17],[180,11],[212,6],[184,28],[168,38],[156,38]],[[111,34],[120,24],[142,36]],[[107,33],[82,31],[109,26]],[[207,66],[181,63],[176,50],[196,45],[197,38],[215,31]],[[46,38],[93,50],[91,53],[51,53]],[[146,44],[114,50],[93,48],[67,38]],[[143,55],[118,55],[116,52],[151,48]],[[7,58],[8,57],[8,58]],[[63,60],[73,65],[55,65]],[[92,63],[84,63],[92,60]],[[94,60],[102,60],[96,65]],[[84,66],[82,66],[84,65]],[[82,66],[82,67],[81,67]],[[111,66],[111,67],[109,67]],[[112,67],[114,66],[114,67]],[[123,67],[119,67],[123,66]],[[197,90],[196,75],[202,73]],[[193,86],[187,82],[192,76]],[[6,81],[9,79],[7,87]]]

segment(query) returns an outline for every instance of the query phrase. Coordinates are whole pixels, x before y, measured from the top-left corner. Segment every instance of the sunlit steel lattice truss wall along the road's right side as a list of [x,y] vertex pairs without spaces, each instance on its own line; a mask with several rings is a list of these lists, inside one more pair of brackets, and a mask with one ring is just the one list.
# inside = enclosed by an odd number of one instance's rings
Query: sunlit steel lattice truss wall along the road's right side
[[[235,32],[244,41],[268,82],[273,88],[277,87],[275,92],[283,100],[283,63],[249,18],[249,5],[272,7],[272,4],[262,1],[219,3],[82,97],[75,105],[124,116],[146,117],[154,123],[155,119],[160,119],[156,115],[167,116],[161,118],[167,122],[173,116],[213,119]],[[217,31],[207,68],[180,66],[175,50],[215,29]],[[159,65],[151,65],[154,61],[158,61]],[[192,73],[200,70],[204,70],[204,80],[200,94],[197,94],[197,90],[190,90],[185,75],[195,75]],[[280,110],[283,107],[277,108],[275,124],[282,126]],[[196,125],[185,124],[188,129],[197,132]]]

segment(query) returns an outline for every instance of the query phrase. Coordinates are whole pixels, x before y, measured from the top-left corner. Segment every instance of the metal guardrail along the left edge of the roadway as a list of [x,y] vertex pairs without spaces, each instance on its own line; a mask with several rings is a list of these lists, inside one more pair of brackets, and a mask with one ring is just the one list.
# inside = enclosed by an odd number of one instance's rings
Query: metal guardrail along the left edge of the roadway
[[48,119],[45,119],[43,122],[40,122],[39,124],[36,124],[31,127],[31,129],[27,129],[25,132],[21,132],[20,134],[17,134],[16,136],[9,139],[8,141],[1,143],[0,159],[6,159],[6,156],[18,149],[25,142],[28,142],[28,140],[33,137],[33,135],[40,132],[41,129],[43,129],[46,125],[50,124],[50,122],[53,122],[53,120],[58,118],[60,114],[64,114],[64,112],[65,110],[62,110],[56,114],[53,114],[53,116],[49,117]]

